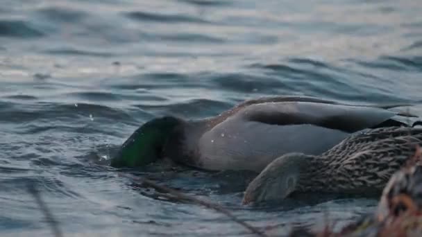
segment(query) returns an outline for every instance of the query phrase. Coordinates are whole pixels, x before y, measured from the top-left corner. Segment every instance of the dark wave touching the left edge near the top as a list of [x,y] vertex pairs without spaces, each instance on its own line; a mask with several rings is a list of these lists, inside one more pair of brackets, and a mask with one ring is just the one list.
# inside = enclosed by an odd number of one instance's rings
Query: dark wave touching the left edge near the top
[[42,37],[44,33],[30,23],[22,20],[0,20],[0,37],[32,38]]

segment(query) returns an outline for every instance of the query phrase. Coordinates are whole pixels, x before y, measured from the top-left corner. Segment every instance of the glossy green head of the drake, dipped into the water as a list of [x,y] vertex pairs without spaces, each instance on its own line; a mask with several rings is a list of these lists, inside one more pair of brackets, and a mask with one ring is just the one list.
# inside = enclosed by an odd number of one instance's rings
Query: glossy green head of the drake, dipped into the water
[[146,166],[158,160],[171,130],[179,124],[180,120],[171,116],[144,123],[121,145],[110,165],[131,168]]

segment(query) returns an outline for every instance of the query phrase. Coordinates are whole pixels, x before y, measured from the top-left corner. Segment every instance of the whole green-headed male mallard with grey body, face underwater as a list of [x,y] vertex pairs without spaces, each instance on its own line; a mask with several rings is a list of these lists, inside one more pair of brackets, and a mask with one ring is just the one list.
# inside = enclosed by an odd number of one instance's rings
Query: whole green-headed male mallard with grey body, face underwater
[[[205,170],[255,170],[289,152],[319,155],[366,128],[406,125],[394,106],[353,106],[312,97],[247,100],[219,116],[167,116],[138,128],[111,161],[144,166],[162,157]],[[402,121],[400,120],[400,116]]]

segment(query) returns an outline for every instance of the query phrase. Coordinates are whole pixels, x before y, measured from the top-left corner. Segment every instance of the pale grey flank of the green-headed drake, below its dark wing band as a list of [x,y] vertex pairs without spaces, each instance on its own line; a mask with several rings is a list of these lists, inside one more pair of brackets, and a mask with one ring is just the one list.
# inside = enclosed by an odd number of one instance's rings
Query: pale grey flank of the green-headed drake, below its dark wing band
[[320,155],[349,134],[304,125],[269,125],[256,121],[226,121],[203,134],[199,141],[201,168],[254,170],[289,152]]

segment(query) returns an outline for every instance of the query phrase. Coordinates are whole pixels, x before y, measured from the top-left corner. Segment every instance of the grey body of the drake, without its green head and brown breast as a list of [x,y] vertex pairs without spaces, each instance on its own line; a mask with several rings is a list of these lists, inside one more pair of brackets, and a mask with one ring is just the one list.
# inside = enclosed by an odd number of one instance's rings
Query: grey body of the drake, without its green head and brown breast
[[[353,132],[396,124],[391,119],[396,113],[380,107],[302,100],[249,100],[209,119],[199,141],[189,143],[189,150],[195,150],[194,166],[260,172],[286,153],[321,155]],[[192,133],[198,134],[186,132]]]

